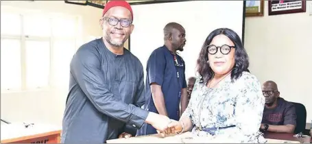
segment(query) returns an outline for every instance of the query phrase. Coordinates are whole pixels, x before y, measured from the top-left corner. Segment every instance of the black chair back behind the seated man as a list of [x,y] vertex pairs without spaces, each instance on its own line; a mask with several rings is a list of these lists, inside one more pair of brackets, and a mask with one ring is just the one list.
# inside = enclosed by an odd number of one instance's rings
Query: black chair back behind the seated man
[[297,115],[297,125],[295,128],[294,134],[298,134],[299,132],[304,132],[306,128],[307,122],[307,110],[303,104],[291,102],[293,106],[296,108],[296,115]]

